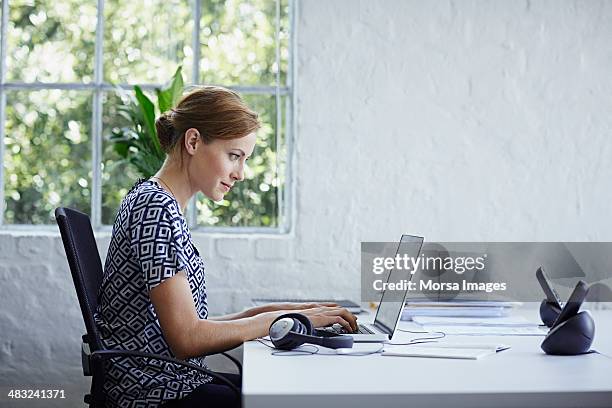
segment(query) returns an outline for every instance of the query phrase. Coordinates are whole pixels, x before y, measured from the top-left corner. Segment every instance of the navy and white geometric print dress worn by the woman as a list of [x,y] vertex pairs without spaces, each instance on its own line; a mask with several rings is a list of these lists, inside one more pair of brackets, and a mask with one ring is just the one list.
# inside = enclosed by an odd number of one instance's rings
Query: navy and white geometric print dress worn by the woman
[[[200,319],[208,317],[204,264],[176,199],[159,184],[139,180],[121,202],[104,265],[95,313],[102,344],[175,357],[164,339],[149,292],[184,271]],[[190,363],[206,368],[204,357]],[[157,407],[212,379],[143,358],[113,359],[104,390],[109,407]]]

